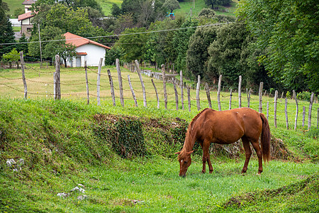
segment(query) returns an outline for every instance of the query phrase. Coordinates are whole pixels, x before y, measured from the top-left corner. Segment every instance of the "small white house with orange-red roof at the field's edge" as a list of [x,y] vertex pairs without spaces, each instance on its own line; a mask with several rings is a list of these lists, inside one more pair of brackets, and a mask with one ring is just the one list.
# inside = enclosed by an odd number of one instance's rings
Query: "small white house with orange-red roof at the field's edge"
[[103,58],[102,65],[104,64],[106,49],[111,48],[69,32],[64,35],[66,43],[72,43],[76,47],[75,50],[77,50],[77,57],[67,60],[67,66],[84,67],[84,61],[86,61],[86,66],[98,66],[100,58]]

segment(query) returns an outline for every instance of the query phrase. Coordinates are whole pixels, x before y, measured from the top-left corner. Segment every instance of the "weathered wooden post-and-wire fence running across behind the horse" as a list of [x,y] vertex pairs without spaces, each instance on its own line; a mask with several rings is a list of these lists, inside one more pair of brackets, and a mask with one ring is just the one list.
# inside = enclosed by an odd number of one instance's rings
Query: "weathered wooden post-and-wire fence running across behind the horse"
[[[23,54],[23,53],[22,53]],[[22,55],[23,57],[23,55]],[[212,108],[212,104],[211,104],[211,95],[213,94],[216,94],[217,95],[217,99],[218,99],[218,110],[221,110],[221,102],[220,102],[220,97],[225,99],[225,98],[229,98],[229,107],[228,109],[231,109],[233,107],[242,107],[242,89],[241,89],[241,77],[239,78],[239,86],[238,86],[238,91],[237,93],[233,93],[233,89],[230,88],[230,94],[229,95],[223,95],[223,94],[220,94],[220,90],[221,90],[221,80],[222,80],[222,76],[220,75],[220,78],[219,78],[219,81],[218,81],[218,87],[216,85],[212,86],[212,87],[208,87],[208,84],[204,84],[202,85],[201,84],[201,80],[200,80],[200,77],[198,76],[198,82],[196,84],[196,97],[191,97],[191,86],[189,85],[186,85],[183,83],[183,79],[182,79],[182,72],[181,72],[181,75],[180,75],[180,80],[177,80],[175,78],[175,75],[174,75],[174,78],[172,78],[172,75],[166,75],[165,71],[164,71],[164,65],[162,65],[162,76],[159,76],[159,79],[162,80],[162,83],[160,82],[154,82],[153,79],[151,79],[150,82],[144,82],[142,80],[142,75],[141,73],[143,73],[141,70],[140,70],[140,67],[138,65],[138,61],[135,60],[135,66],[137,67],[137,69],[135,69],[137,72],[138,72],[138,76],[140,78],[140,81],[136,80],[136,81],[132,81],[130,80],[130,76],[128,75],[128,84],[130,85],[130,89],[123,89],[123,84],[120,85],[120,82],[122,82],[122,80],[125,80],[121,77],[121,70],[120,70],[120,67],[119,67],[119,62],[117,62],[117,66],[116,66],[116,70],[117,70],[117,77],[118,77],[118,84],[119,84],[119,88],[117,89],[116,87],[114,87],[114,84],[113,84],[113,80],[112,80],[112,76],[111,76],[111,72],[110,70],[108,70],[108,73],[107,73],[107,76],[108,76],[108,80],[109,80],[109,83],[110,85],[109,86],[105,86],[105,85],[101,85],[101,77],[103,78],[103,76],[106,76],[104,75],[103,73],[101,73],[101,68],[99,66],[99,70],[98,72],[96,72],[95,70],[93,69],[90,69],[89,67],[84,67],[85,69],[85,77],[86,77],[86,80],[85,82],[77,82],[77,83],[61,83],[60,82],[60,59],[56,58],[57,60],[57,63],[56,63],[56,70],[55,72],[53,72],[53,75],[54,75],[54,82],[42,82],[40,80],[30,80],[28,78],[26,78],[26,73],[28,75],[28,73],[30,72],[24,72],[24,67],[26,67],[26,65],[23,63],[23,58],[21,58],[21,72],[22,72],[22,79],[23,79],[23,85],[25,87],[25,91],[22,91],[21,89],[16,89],[14,87],[11,87],[9,86],[8,84],[4,84],[3,82],[0,82],[1,85],[4,85],[6,87],[9,87],[11,89],[15,89],[16,91],[18,92],[23,92],[24,93],[24,97],[25,99],[27,98],[27,94],[35,94],[35,95],[45,95],[45,96],[52,96],[52,94],[50,93],[46,93],[45,94],[38,94],[37,93],[34,93],[34,92],[27,92],[26,90],[26,82],[35,82],[35,83],[44,83],[45,85],[47,84],[53,84],[54,85],[54,91],[53,91],[53,97],[54,99],[60,99],[61,96],[67,96],[67,95],[77,95],[77,96],[82,96],[82,95],[85,95],[87,97],[87,104],[89,104],[89,97],[96,97],[98,99],[98,105],[100,104],[99,103],[99,99],[100,98],[110,98],[109,96],[101,96],[101,94],[99,94],[99,89],[100,87],[103,87],[103,88],[106,88],[106,89],[110,89],[111,90],[111,98],[113,100],[113,106],[116,106],[116,95],[115,95],[115,90],[116,91],[120,91],[120,99],[123,99],[123,103],[121,102],[121,105],[124,106],[124,96],[123,96],[123,91],[127,92],[127,91],[130,91],[132,93],[132,97],[133,98],[130,98],[130,97],[127,97],[127,95],[125,96],[125,99],[128,99],[128,100],[133,100],[134,103],[135,103],[135,107],[138,107],[138,102],[143,102],[144,104],[144,107],[147,107],[146,105],[146,94],[148,95],[152,95],[152,94],[156,94],[156,97],[157,97],[157,100],[149,100],[148,102],[157,102],[157,108],[159,108],[160,106],[160,101],[159,100],[159,95],[164,95],[164,107],[165,109],[167,109],[167,104],[175,104],[176,106],[176,110],[179,110],[179,96],[181,98],[181,109],[184,110],[184,89],[187,89],[187,100],[188,100],[188,106],[189,106],[189,111],[191,109],[191,106],[193,105],[193,107],[197,107],[198,111],[201,109],[201,105],[202,107],[203,106],[207,106],[209,108]],[[30,70],[33,70],[34,72],[36,73],[45,73],[45,74],[52,74],[52,72],[39,72],[39,70],[35,70],[35,69],[30,69]],[[90,71],[92,73],[96,73],[96,75],[98,76],[98,81],[96,82],[96,84],[93,84],[91,82],[89,82],[88,80],[88,77],[87,77],[87,71]],[[115,69],[114,69],[115,70]],[[0,75],[1,78],[3,78],[4,80],[21,80],[21,79],[18,79],[18,78],[9,78],[9,77],[4,77],[2,75]],[[0,80],[1,80],[0,78]],[[100,79],[100,80],[99,80]],[[170,93],[167,93],[167,89],[166,89],[166,84],[167,84],[167,81],[168,79],[170,79],[169,81],[172,82],[173,84],[173,87],[174,87],[174,94],[170,94]],[[138,91],[136,89],[133,89],[133,85],[132,85],[132,82],[140,82],[141,83],[141,86],[142,86],[142,92],[141,91]],[[144,86],[144,83],[152,83],[154,89],[155,89],[155,92],[147,92],[146,89],[145,89],[145,86]],[[60,85],[79,85],[79,84],[86,84],[86,93],[81,93],[81,92],[77,92],[77,93],[68,93],[68,94],[61,94],[61,90],[60,89]],[[96,85],[96,90],[97,90],[97,94],[94,95],[94,94],[91,94],[89,92],[89,84],[90,85]],[[162,92],[159,92],[157,90],[157,87],[155,86],[155,84],[163,84],[163,91]],[[177,91],[177,86],[180,87],[181,89],[181,92],[178,92]],[[259,111],[262,111],[262,104],[264,104],[264,102],[262,101],[262,96],[265,96],[267,94],[267,90],[263,90],[262,89],[263,87],[263,82],[260,83],[259,85],[259,92],[258,92],[258,95],[259,95]],[[214,88],[217,88],[217,92],[214,92],[213,89]],[[225,88],[223,88],[223,90],[225,91]],[[121,92],[122,91],[122,92]],[[236,92],[236,89],[235,89],[235,92]],[[121,94],[122,93],[122,94]],[[143,94],[143,99],[140,100],[140,99],[137,99],[136,98],[136,94],[135,93],[142,93]],[[252,89],[246,89],[246,93],[247,93],[247,107],[250,107],[250,101],[251,100],[257,100],[257,99],[254,99],[254,98],[251,98],[251,94],[252,93],[257,93],[257,92],[254,92],[252,91]],[[168,100],[168,97],[171,97],[173,96],[175,97],[175,100],[174,101],[169,101]],[[203,98],[200,98],[200,97],[207,97],[207,99],[203,99]],[[267,95],[268,97],[272,97],[272,94],[269,94]],[[283,94],[281,94],[281,96],[283,96]],[[232,103],[232,98],[233,97],[238,97],[238,106],[237,104],[234,104]],[[285,108],[284,108],[284,113],[285,113],[285,120],[286,120],[286,128],[289,129],[289,123],[294,122],[294,128],[293,129],[297,129],[297,125],[298,125],[298,114],[301,113],[298,111],[298,99],[296,97],[296,92],[293,91],[293,99],[294,101],[296,102],[296,113],[293,113],[293,112],[289,112],[288,111],[288,99],[286,98],[285,99]],[[196,105],[195,104],[191,104],[191,100],[196,100]],[[308,129],[310,129],[311,125],[312,125],[312,122],[311,120],[312,119],[316,119],[317,120],[317,128],[318,128],[318,123],[319,123],[319,109],[317,110],[317,115],[316,116],[312,116],[311,114],[311,111],[313,110],[312,107],[313,107],[313,104],[318,102],[318,99],[315,99],[314,97],[314,94],[311,94],[311,99],[310,99],[310,103],[309,103],[309,109],[308,109]],[[274,93],[274,102],[272,102],[274,104],[274,107],[271,109],[269,109],[269,102],[267,102],[267,119],[274,119],[274,126],[277,127],[277,105],[278,105],[278,91],[275,91]],[[225,103],[223,102],[223,105],[225,105]],[[272,116],[273,114],[273,116]],[[306,107],[303,106],[303,119],[302,119],[302,126],[304,127],[305,125],[305,120],[306,120]],[[294,119],[291,119],[291,118],[294,118]],[[270,122],[270,121],[269,121]],[[300,123],[300,121],[299,121]],[[314,122],[313,122],[314,124]]]

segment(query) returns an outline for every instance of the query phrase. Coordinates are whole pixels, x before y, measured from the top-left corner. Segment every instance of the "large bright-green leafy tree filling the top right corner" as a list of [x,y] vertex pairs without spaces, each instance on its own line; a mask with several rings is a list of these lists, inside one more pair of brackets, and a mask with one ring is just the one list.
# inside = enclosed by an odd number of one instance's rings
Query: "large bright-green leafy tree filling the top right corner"
[[319,92],[317,1],[242,0],[237,16],[257,37],[258,48],[267,50],[259,62],[276,82]]

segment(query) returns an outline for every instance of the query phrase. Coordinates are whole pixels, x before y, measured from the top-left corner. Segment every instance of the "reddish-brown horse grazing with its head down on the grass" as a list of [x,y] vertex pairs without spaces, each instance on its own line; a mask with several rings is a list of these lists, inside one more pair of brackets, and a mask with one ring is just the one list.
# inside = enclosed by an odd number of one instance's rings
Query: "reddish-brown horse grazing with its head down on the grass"
[[[262,148],[259,147],[259,135],[261,136]],[[198,141],[203,149],[203,170],[206,172],[206,161],[208,162],[209,173],[213,172],[211,159],[209,158],[209,146],[211,143],[230,144],[242,138],[245,149],[246,160],[242,173],[246,173],[252,151],[250,143],[258,156],[258,174],[262,173],[262,158],[269,161],[270,158],[270,130],[264,114],[250,108],[230,109],[216,111],[204,109],[197,114],[189,124],[186,132],[184,147],[178,154],[179,176],[185,177],[186,171],[191,165],[191,153],[194,143]]]

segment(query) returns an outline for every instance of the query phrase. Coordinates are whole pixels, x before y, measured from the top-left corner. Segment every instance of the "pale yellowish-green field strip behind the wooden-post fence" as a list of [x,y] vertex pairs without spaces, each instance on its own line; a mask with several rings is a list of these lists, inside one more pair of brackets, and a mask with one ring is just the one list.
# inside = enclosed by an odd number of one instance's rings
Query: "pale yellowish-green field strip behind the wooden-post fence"
[[[147,103],[147,107],[167,110],[191,111],[197,109],[199,111],[207,107],[227,110],[250,107],[266,114],[269,124],[274,126],[286,126],[287,129],[310,129],[310,126],[318,128],[318,97],[313,97],[310,102],[304,102],[296,100],[296,95],[293,99],[284,97],[284,93],[275,97],[275,93],[272,94],[264,89],[262,91],[260,89],[253,91],[249,88],[230,89],[220,84],[208,85],[200,82],[197,82],[196,88],[194,88],[195,83],[186,84],[183,82],[183,78],[178,80],[177,75],[165,76],[164,70],[161,73],[160,71],[135,69],[135,72],[125,71],[120,75],[119,65],[103,67],[103,70],[96,70],[96,67],[63,68],[59,70],[62,75],[61,82],[55,82],[54,76],[57,70],[52,70],[52,68],[39,69],[29,64],[24,64],[22,67],[24,67],[27,92],[26,87],[23,90],[21,77],[18,77],[21,76],[21,71],[0,72],[0,88],[3,95],[11,97],[21,95],[22,97],[24,94],[25,98],[56,99],[55,87],[59,84],[61,87],[60,97],[87,99],[89,104],[92,104],[93,97],[93,102],[101,99],[103,104],[113,102],[113,105],[119,105],[119,100],[123,99],[121,102],[123,107],[143,106],[143,104],[145,106]],[[106,70],[111,73],[113,85]],[[138,72],[146,75],[142,75],[139,79]],[[128,77],[124,77],[123,74],[128,75]],[[182,73],[179,77],[181,75]],[[101,82],[97,81],[98,76],[101,77]],[[120,81],[123,82],[122,88]],[[131,87],[129,87],[130,84]],[[142,89],[142,84],[145,84],[145,89]],[[166,89],[164,89],[164,84]],[[98,87],[99,94],[97,93]],[[112,89],[113,94],[111,94]],[[297,106],[298,111],[296,110]]]

